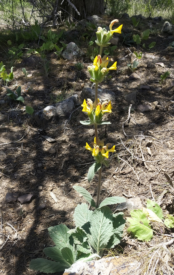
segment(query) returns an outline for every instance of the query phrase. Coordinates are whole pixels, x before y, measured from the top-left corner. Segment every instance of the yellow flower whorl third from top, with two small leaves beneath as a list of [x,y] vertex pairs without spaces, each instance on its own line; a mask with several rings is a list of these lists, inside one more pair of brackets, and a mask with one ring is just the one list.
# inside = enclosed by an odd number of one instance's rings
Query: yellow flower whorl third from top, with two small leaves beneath
[[[92,101],[90,98],[87,98],[87,102],[84,99],[83,104],[81,105],[83,107],[83,112],[87,113],[89,117],[89,123],[88,124],[101,124],[102,118],[104,113],[111,113],[111,101],[105,100],[103,103],[100,102],[99,98],[96,101]],[[86,124],[86,121],[80,121],[82,124]],[[103,121],[103,124],[109,124],[108,121]]]

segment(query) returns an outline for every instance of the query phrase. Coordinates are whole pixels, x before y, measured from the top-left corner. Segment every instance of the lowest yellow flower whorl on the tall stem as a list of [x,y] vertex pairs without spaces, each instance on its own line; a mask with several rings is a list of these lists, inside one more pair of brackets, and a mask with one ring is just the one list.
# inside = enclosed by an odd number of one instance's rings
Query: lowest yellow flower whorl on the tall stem
[[93,148],[91,146],[89,146],[89,144],[87,142],[86,142],[85,148],[86,148],[86,150],[89,150],[92,152],[92,155],[96,162],[103,163],[103,160],[105,158],[108,159],[109,152],[116,152],[115,145],[111,149],[108,149],[108,146],[110,146],[111,143],[107,143],[106,145],[104,145],[103,139],[102,140],[99,139],[99,145],[97,145],[96,137],[94,137],[94,141],[91,142],[91,144],[93,145]]

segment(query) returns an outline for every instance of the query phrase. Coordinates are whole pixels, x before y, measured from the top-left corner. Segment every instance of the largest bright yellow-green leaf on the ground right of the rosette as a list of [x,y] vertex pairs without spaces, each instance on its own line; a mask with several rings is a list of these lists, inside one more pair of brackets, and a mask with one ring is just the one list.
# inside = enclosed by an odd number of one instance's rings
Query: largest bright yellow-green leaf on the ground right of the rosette
[[130,212],[132,219],[127,218],[130,223],[129,232],[132,232],[138,240],[150,241],[153,236],[152,228],[149,225],[149,220],[146,218],[146,214],[142,210],[134,210]]

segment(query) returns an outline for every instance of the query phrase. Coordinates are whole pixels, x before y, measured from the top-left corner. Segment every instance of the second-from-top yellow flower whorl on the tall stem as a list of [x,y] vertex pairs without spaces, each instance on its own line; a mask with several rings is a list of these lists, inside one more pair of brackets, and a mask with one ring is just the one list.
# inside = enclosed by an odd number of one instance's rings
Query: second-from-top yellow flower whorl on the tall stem
[[92,66],[88,66],[88,72],[91,75],[90,80],[94,83],[101,83],[104,77],[108,74],[109,70],[116,70],[116,62],[109,68],[107,68],[108,62],[113,61],[112,58],[108,58],[104,55],[97,55],[93,61]]

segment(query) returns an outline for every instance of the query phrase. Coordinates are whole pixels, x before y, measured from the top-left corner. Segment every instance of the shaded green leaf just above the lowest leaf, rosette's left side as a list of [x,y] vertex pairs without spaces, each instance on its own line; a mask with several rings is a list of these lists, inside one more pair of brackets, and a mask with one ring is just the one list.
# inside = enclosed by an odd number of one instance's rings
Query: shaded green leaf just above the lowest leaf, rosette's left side
[[65,264],[67,266],[71,266],[62,256],[61,250],[57,247],[47,247],[43,250],[43,252],[50,257],[52,260],[57,261],[61,264]]

